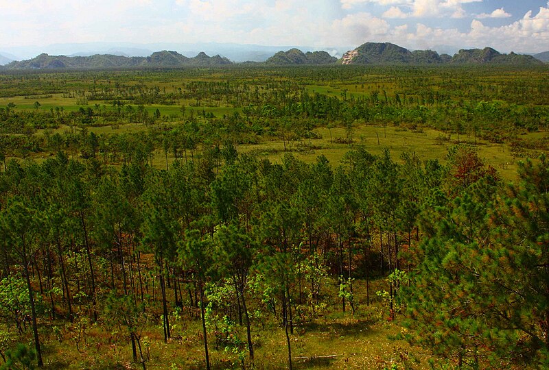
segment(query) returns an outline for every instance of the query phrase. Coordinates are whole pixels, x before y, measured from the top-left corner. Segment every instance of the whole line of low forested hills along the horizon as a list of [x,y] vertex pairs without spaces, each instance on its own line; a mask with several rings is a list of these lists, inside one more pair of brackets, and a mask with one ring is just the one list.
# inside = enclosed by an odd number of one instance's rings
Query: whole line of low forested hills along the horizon
[[[138,50],[135,49],[134,51],[137,52]],[[513,52],[503,54],[490,47],[462,49],[454,56],[449,56],[432,50],[410,51],[390,42],[366,42],[356,49],[347,51],[339,60],[327,51],[307,51],[303,53],[299,49],[292,48],[288,51],[278,51],[274,56],[268,58],[264,64],[278,66],[322,64],[506,64],[537,66],[544,65],[541,60],[544,60],[543,58],[548,60],[549,52],[537,54],[535,57]],[[42,53],[30,60],[10,62],[5,66],[1,66],[0,69],[176,68],[183,66],[224,66],[228,64],[233,64],[233,62],[219,55],[207,56],[203,51],[194,58],[187,58],[176,51],[164,50],[152,53],[147,57],[113,54],[49,56],[47,53]]]

